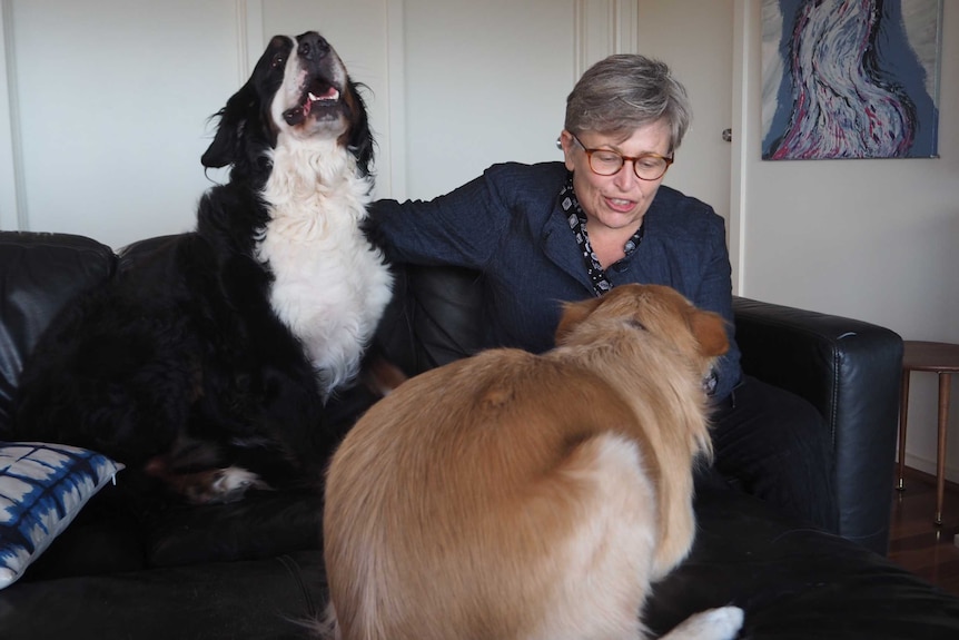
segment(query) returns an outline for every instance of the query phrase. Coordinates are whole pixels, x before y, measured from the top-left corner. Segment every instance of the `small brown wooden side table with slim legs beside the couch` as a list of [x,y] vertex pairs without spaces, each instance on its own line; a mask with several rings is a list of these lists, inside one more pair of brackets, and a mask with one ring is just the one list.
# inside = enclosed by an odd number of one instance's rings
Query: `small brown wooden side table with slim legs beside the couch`
[[939,444],[936,460],[936,524],[942,524],[942,495],[946,491],[946,429],[949,424],[949,391],[952,374],[959,373],[959,344],[906,341],[902,354],[902,385],[899,402],[899,483],[906,466],[906,417],[909,412],[909,374],[926,371],[939,374]]

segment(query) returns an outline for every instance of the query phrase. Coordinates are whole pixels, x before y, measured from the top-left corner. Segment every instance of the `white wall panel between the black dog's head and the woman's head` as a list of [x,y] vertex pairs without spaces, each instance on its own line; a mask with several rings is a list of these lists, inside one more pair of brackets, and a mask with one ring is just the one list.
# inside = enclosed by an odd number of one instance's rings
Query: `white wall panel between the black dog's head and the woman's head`
[[562,159],[573,2],[406,0],[405,8],[409,197],[446,193],[495,161]]

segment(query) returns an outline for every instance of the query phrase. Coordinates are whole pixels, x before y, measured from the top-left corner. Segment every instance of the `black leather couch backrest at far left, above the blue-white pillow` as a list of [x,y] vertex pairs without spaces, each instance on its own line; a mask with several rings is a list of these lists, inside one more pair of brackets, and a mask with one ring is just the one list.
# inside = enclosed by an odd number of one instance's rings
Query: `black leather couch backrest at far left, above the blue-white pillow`
[[40,334],[116,264],[110,247],[82,236],[0,232],[0,440],[10,435],[17,383]]

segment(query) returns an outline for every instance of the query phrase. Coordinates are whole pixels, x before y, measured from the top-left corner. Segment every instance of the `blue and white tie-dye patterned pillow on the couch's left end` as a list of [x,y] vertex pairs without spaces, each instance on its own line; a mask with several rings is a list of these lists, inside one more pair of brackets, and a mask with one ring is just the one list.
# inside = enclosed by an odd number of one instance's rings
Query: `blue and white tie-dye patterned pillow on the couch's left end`
[[0,442],[0,589],[20,578],[122,467],[76,446]]

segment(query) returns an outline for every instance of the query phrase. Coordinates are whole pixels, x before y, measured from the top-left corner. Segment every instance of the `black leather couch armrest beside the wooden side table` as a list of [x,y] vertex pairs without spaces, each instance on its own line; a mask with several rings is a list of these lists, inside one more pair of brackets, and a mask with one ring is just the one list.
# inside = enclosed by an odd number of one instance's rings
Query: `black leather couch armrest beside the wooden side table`
[[811,402],[836,449],[840,533],[886,554],[902,338],[869,323],[733,299],[743,371]]

